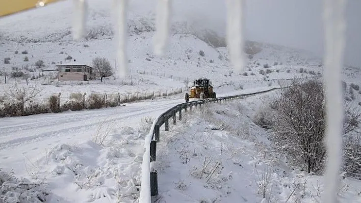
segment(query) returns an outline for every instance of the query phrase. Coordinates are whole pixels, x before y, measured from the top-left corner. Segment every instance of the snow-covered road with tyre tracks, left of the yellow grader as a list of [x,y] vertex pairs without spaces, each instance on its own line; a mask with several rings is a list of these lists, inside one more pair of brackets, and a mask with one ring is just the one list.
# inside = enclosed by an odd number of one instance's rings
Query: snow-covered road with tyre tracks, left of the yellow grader
[[157,117],[182,99],[147,101],[115,108],[31,115],[0,119],[0,162],[4,169],[21,175],[25,163],[44,156],[47,149],[60,143],[91,139],[102,122],[115,127],[137,128],[141,118]]

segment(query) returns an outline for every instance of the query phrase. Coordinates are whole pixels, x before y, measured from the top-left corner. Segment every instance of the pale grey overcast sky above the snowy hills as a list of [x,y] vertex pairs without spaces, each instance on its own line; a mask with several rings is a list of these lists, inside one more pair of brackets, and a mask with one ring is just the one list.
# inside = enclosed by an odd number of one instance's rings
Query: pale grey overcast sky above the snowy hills
[[[225,0],[178,0],[175,16],[196,21],[219,33],[225,31]],[[361,0],[346,8],[345,62],[361,66]],[[322,0],[247,0],[246,38],[323,54]]]

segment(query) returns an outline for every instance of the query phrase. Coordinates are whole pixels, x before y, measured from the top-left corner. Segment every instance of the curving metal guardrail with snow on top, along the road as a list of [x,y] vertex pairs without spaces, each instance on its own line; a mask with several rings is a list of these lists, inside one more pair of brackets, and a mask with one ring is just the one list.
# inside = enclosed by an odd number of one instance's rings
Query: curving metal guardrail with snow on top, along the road
[[[259,91],[259,92],[255,92],[255,93],[246,93],[246,94],[239,94],[239,95],[233,95],[233,96],[185,102],[185,103],[178,104],[178,105],[168,109],[164,113],[162,113],[158,117],[158,119],[156,119],[153,122],[153,125],[149,131],[148,137],[146,137],[146,141],[145,141],[145,145],[149,144],[149,146],[145,146],[142,170],[144,170],[143,167],[149,167],[149,180],[147,180],[147,178],[146,179],[142,178],[140,202],[142,202],[142,201],[148,202],[147,200],[144,200],[144,199],[150,199],[151,198],[150,196],[158,195],[158,174],[157,174],[157,170],[151,168],[151,165],[152,165],[152,162],[155,162],[157,160],[157,142],[160,141],[160,128],[164,124],[165,131],[169,131],[169,119],[171,119],[171,122],[173,123],[173,125],[175,125],[176,120],[177,120],[176,114],[178,114],[178,120],[182,120],[182,110],[184,110],[184,112],[187,112],[187,109],[189,108],[189,110],[192,111],[193,106],[197,107],[199,105],[199,107],[200,107],[201,105],[204,105],[204,104],[207,104],[210,102],[227,101],[230,99],[257,95],[260,93],[267,93],[267,92],[271,92],[271,91],[277,90],[277,89],[282,89],[282,88],[271,88],[269,90]],[[146,156],[147,153],[149,153],[149,158]],[[148,175],[146,173],[144,173],[144,171],[142,171],[142,176],[148,177]],[[148,185],[148,186],[146,186],[146,185]],[[149,188],[150,188],[150,192],[149,192]],[[148,191],[144,191],[144,190],[148,190]],[[145,196],[148,196],[148,197],[145,197]]]

